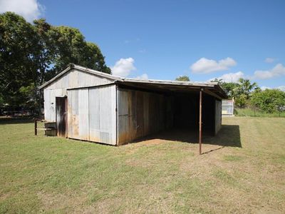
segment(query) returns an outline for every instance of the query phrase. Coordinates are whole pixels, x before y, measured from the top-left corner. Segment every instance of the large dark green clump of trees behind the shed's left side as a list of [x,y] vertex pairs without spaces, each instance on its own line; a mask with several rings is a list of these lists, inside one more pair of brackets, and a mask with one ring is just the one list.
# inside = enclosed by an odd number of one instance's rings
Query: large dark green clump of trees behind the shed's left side
[[40,108],[38,86],[69,63],[111,72],[99,47],[78,29],[52,26],[45,19],[30,24],[12,12],[0,14],[0,104]]

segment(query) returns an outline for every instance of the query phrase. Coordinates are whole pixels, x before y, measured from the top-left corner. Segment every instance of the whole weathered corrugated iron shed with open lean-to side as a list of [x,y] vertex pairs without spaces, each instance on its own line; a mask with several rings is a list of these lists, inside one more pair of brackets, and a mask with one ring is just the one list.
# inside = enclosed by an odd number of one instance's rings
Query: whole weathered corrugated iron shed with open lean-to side
[[[47,121],[56,121],[56,97],[67,97],[68,138],[110,145],[123,145],[177,123],[197,126],[202,120],[217,133],[221,101],[227,98],[217,83],[120,78],[74,64],[40,88]],[[209,109],[199,107],[202,97]],[[202,111],[204,118],[194,115]]]

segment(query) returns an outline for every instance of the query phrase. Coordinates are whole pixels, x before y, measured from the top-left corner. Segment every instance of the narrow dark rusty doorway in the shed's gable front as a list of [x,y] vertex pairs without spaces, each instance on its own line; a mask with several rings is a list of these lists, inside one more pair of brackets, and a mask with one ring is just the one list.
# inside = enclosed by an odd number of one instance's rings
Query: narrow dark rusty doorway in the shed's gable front
[[67,98],[56,97],[56,129],[58,137],[67,138]]

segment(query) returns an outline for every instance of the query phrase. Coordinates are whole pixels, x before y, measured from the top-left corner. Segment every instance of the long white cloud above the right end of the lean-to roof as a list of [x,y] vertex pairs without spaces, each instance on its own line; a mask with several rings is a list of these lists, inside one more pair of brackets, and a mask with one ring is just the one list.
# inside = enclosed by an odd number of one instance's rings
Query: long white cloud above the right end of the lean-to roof
[[231,66],[236,66],[237,62],[233,58],[227,57],[219,61],[208,58],[200,58],[190,66],[193,73],[212,73],[214,71],[226,71]]

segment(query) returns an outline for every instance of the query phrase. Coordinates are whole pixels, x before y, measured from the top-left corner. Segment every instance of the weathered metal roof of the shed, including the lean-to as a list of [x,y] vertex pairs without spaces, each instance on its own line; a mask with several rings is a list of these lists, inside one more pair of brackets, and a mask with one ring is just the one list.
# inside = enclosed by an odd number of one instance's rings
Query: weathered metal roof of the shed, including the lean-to
[[104,78],[109,78],[109,79],[113,80],[114,82],[123,83],[126,85],[134,85],[135,84],[137,86],[154,86],[154,87],[159,87],[162,90],[163,90],[163,88],[164,89],[170,89],[171,88],[171,87],[165,88],[167,86],[172,86],[172,89],[175,88],[175,86],[177,86],[176,88],[184,88],[185,90],[191,90],[193,88],[208,88],[210,91],[212,91],[212,93],[219,93],[219,97],[227,98],[227,94],[218,85],[217,82],[191,82],[191,81],[170,81],[170,80],[152,80],[152,79],[142,80],[142,79],[137,79],[137,78],[122,78],[122,77],[114,76],[114,75],[111,75],[108,73],[95,71],[93,69],[86,68],[83,66],[78,66],[78,65],[75,65],[72,63],[68,66],[68,68],[66,68],[66,70],[62,71],[61,73],[58,73],[57,76],[52,78],[50,81],[47,81],[46,83],[44,83],[42,86],[39,87],[39,89],[45,88],[50,83],[55,81],[57,78],[63,76],[64,73],[67,73],[68,71],[70,71],[72,68],[76,68],[79,71],[91,73],[91,74],[94,74],[97,76],[102,76]]

